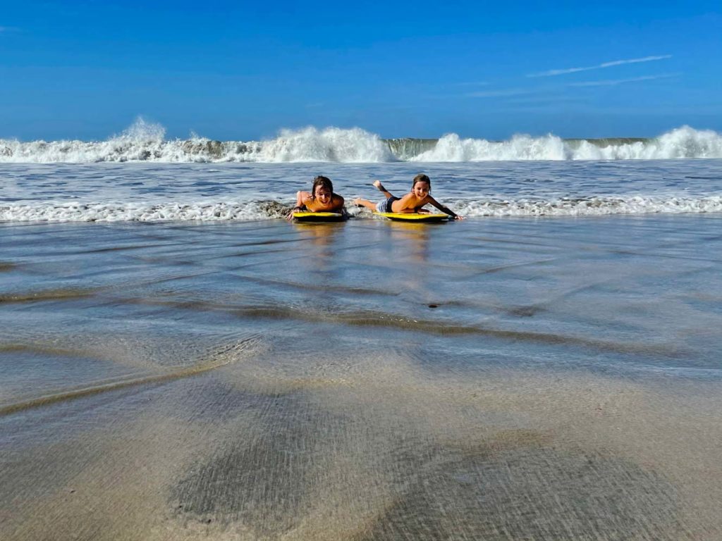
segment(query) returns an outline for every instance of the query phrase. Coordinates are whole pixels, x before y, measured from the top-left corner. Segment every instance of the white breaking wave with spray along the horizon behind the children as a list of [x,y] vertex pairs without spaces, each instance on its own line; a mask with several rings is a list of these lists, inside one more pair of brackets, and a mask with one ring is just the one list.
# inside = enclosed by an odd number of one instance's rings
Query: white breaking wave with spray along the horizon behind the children
[[480,162],[722,158],[722,134],[682,126],[656,138],[562,139],[516,135],[508,141],[460,138],[382,139],[360,128],[284,129],[267,141],[165,139],[165,128],[142,118],[108,141],[0,139],[0,162]]

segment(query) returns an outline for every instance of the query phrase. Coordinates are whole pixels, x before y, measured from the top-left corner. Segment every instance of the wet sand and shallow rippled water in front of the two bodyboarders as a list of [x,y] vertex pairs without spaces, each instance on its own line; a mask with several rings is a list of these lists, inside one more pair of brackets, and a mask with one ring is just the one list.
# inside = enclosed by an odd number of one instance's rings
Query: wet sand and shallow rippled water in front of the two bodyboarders
[[0,538],[717,540],[721,219],[0,225]]

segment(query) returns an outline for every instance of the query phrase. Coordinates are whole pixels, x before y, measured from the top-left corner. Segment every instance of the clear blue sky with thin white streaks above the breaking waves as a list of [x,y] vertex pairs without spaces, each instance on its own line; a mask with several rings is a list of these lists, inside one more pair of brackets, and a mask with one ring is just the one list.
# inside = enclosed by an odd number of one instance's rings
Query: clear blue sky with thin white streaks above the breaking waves
[[718,0],[4,4],[0,138],[722,131]]

